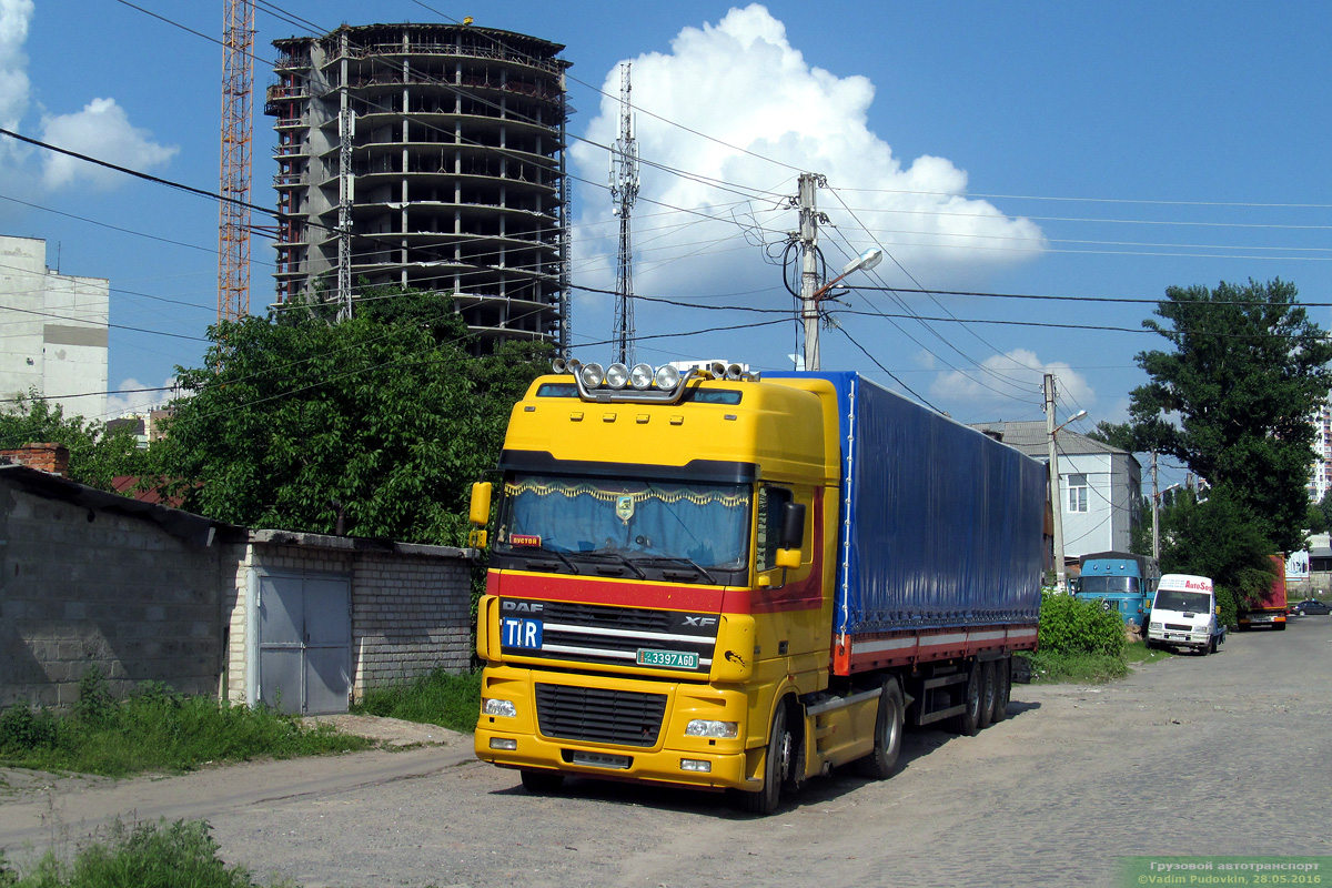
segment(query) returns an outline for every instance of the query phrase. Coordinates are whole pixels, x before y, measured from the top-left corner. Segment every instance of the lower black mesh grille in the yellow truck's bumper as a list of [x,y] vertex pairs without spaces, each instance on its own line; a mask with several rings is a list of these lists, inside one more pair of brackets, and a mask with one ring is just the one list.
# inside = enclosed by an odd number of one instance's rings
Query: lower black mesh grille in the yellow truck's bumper
[[537,684],[537,723],[547,738],[653,747],[665,715],[665,694]]

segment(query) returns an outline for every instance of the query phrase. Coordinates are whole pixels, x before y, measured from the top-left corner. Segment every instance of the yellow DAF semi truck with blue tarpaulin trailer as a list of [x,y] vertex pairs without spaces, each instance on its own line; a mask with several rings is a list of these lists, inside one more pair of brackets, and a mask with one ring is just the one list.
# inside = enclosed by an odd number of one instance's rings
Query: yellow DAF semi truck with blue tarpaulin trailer
[[555,370],[500,458],[477,756],[770,813],[835,766],[888,777],[904,724],[1004,718],[1039,463],[855,373]]

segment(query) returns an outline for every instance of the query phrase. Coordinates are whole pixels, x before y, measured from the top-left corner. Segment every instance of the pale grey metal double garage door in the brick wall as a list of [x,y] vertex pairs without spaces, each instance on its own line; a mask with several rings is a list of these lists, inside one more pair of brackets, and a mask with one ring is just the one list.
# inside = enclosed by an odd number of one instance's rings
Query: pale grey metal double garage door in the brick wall
[[320,574],[258,576],[258,699],[284,712],[346,712],[352,583]]

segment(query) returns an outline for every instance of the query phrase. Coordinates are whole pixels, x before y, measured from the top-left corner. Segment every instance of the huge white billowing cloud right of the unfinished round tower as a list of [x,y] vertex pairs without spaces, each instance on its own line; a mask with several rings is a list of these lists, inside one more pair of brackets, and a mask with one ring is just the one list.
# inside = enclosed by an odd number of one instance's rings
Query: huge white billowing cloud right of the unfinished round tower
[[[685,28],[670,53],[647,53],[631,63],[631,100],[642,109],[634,114],[634,134],[645,161],[634,208],[634,278],[641,293],[715,292],[727,280],[749,278],[753,284],[755,274],[765,280],[778,274],[761,264],[759,250],[747,245],[729,220],[753,213],[767,229],[763,238],[781,242],[785,232],[797,226],[795,212],[783,196],[795,193],[798,170],[823,173],[830,188],[844,189],[838,194],[821,189],[818,204],[855,252],[872,242],[859,230],[863,225],[922,280],[1019,262],[1044,249],[1043,234],[1031,221],[966,198],[967,174],[948,160],[923,156],[904,166],[868,128],[874,84],[813,67],[791,45],[786,25],[762,5],[734,8],[717,24]],[[610,145],[618,136],[619,84],[617,65],[606,76],[606,97],[586,133],[597,145]],[[606,181],[606,152],[597,145],[579,142],[571,153],[581,176]],[[647,161],[771,194],[734,208],[743,198],[733,190],[663,172]],[[585,284],[606,286],[614,281],[618,226],[609,196],[593,194],[583,204],[581,222],[599,224],[603,240],[591,238],[591,228],[579,229],[583,240],[575,273]],[[670,213],[661,204],[718,214],[725,221],[699,222],[698,216]],[[825,229],[821,244],[830,268],[844,264],[834,246],[836,240]],[[682,256],[689,261],[677,261]],[[891,262],[879,273],[891,280]]]

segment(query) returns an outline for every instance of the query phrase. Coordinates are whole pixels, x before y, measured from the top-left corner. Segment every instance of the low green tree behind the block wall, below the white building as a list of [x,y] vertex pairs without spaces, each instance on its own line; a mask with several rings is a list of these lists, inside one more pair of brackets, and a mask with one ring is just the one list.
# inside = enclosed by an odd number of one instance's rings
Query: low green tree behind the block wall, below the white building
[[59,443],[69,450],[69,477],[73,481],[111,490],[116,475],[140,475],[149,457],[140,450],[127,429],[107,430],[105,423],[83,417],[65,417],[64,407],[36,393],[19,395],[12,411],[0,413],[0,447],[29,443]]

